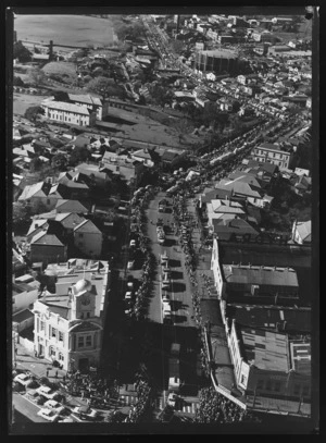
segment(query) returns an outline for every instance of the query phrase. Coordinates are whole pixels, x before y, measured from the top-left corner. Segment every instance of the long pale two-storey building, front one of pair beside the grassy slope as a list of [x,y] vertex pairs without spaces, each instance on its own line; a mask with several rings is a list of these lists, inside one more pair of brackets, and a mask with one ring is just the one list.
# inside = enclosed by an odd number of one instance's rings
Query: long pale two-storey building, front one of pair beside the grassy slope
[[47,119],[61,123],[71,123],[79,126],[91,126],[96,123],[97,112],[86,104],[66,103],[46,99],[41,102]]

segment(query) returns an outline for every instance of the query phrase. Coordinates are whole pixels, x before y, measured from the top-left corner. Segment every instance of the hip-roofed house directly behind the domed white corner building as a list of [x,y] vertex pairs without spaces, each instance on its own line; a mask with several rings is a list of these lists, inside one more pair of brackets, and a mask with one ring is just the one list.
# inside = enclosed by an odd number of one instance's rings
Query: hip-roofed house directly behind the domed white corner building
[[103,234],[91,220],[84,220],[74,227],[74,244],[83,254],[98,258],[102,251]]

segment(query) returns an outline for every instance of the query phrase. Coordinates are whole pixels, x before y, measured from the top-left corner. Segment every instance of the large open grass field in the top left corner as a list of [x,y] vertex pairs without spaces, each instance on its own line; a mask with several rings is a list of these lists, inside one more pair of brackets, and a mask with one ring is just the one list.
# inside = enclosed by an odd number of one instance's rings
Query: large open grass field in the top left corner
[[18,40],[72,46],[105,46],[114,41],[111,22],[84,15],[17,15],[14,29]]

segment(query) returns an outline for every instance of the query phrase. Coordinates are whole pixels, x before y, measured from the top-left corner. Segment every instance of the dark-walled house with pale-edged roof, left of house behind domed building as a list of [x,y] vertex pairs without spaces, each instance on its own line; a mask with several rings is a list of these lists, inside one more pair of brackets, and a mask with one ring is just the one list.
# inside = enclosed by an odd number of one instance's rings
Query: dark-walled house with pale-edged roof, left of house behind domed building
[[67,246],[62,236],[58,234],[48,234],[47,231],[40,231],[30,242],[32,261],[52,262],[65,261],[67,258]]

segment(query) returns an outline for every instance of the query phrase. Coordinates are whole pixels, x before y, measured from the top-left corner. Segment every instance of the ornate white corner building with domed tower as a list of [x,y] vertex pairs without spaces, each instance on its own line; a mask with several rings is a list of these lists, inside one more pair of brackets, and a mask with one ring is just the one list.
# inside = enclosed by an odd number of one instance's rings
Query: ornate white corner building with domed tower
[[43,294],[34,304],[34,346],[39,356],[59,361],[65,370],[87,372],[100,361],[109,266],[70,260],[66,268],[54,268],[55,294]]

